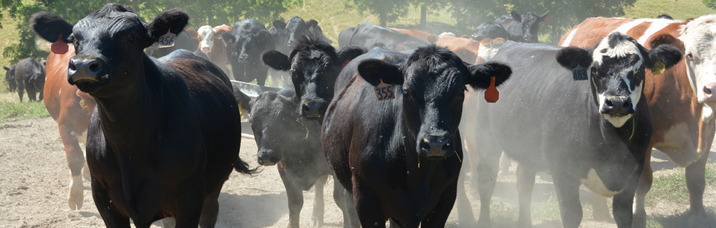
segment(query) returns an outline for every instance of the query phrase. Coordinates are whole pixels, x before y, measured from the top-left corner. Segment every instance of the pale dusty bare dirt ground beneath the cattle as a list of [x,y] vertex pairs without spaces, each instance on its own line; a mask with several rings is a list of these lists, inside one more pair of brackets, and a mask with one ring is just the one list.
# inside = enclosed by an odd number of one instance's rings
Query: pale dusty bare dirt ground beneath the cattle
[[[652,159],[658,175],[674,171],[675,166],[663,159],[665,156],[655,153]],[[712,152],[712,157],[713,157]],[[253,139],[241,141],[241,158],[256,167],[256,143]],[[514,170],[514,166],[513,166]],[[64,157],[64,148],[59,138],[57,124],[52,118],[33,118],[0,124],[0,227],[104,227],[104,222],[92,201],[89,181],[84,181],[84,204],[82,209],[71,210],[67,205],[69,168]],[[544,195],[553,195],[553,185],[538,177],[535,201],[546,201]],[[506,205],[516,204],[514,175],[500,176],[498,189],[493,201],[502,201]],[[332,196],[333,181],[326,184],[326,215],[324,227],[342,227],[342,214],[334,204]],[[469,188],[469,187],[468,187]],[[716,206],[713,196],[716,191],[707,186],[705,206],[713,214]],[[309,227],[314,190],[304,192],[304,208],[301,211],[301,227]],[[470,189],[468,189],[468,192]],[[552,192],[552,194],[550,194]],[[583,196],[587,198],[589,196]],[[478,215],[479,201],[470,196],[475,217]],[[216,227],[286,227],[289,210],[286,191],[276,167],[264,167],[256,176],[246,176],[234,172],[219,197],[221,211]],[[650,217],[664,227],[662,220],[684,220],[688,204],[662,204],[647,207]],[[533,210],[534,207],[533,207]],[[662,220],[658,220],[662,219]],[[448,227],[458,227],[457,212],[453,210]],[[685,220],[684,220],[685,222]],[[533,217],[535,227],[561,227],[557,221],[541,221]],[[161,227],[155,222],[153,227]],[[677,222],[674,227],[685,227]],[[591,219],[591,213],[585,213],[581,227],[616,227],[611,222],[599,222]]]

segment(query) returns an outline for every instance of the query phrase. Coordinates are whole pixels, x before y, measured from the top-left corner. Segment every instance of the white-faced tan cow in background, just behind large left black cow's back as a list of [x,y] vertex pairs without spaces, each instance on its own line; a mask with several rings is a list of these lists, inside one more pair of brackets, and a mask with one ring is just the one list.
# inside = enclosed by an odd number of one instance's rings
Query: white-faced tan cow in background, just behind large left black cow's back
[[231,80],[234,80],[229,70],[228,59],[226,58],[226,44],[223,42],[222,34],[231,32],[231,27],[222,24],[211,28],[208,25],[199,27],[199,49],[204,52],[213,64],[221,67]]

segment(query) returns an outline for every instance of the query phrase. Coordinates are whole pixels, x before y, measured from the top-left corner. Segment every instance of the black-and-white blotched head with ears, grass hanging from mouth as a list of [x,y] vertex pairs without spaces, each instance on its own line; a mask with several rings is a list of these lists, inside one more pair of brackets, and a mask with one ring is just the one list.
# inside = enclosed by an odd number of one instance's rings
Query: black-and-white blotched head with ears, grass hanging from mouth
[[672,67],[679,62],[681,54],[668,44],[648,50],[632,37],[614,32],[594,49],[568,47],[560,50],[556,58],[570,70],[579,68],[578,65],[589,66],[584,70],[591,81],[599,113],[620,128],[637,112],[644,88],[644,69],[659,64]]

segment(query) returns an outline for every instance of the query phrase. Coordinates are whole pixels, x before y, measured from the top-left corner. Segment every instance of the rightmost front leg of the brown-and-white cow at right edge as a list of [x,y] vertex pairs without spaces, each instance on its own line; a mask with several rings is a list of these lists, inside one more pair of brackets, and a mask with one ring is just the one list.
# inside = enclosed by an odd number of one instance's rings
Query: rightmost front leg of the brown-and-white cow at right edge
[[705,166],[709,157],[707,150],[695,163],[686,167],[686,187],[689,189],[689,227],[710,227],[704,209]]

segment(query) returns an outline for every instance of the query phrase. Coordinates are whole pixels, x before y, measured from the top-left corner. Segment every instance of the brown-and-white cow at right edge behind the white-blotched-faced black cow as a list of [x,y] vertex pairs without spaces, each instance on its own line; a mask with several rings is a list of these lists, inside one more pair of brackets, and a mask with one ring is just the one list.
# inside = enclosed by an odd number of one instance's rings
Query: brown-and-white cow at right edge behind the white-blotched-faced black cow
[[[712,43],[716,36],[716,15],[701,16],[689,21],[672,19],[588,18],[567,32],[561,46],[591,47],[599,37],[613,31],[634,37],[647,48],[662,44],[678,47],[685,57],[675,67],[655,75],[647,70],[644,95],[649,101],[654,133],[644,161],[644,172],[637,188],[634,227],[644,227],[647,219],[644,199],[652,186],[650,163],[652,148],[669,156],[672,163],[686,167],[686,185],[690,195],[689,223],[707,227],[703,206],[705,166],[714,138],[713,109],[716,96],[714,69],[716,57]],[[709,60],[709,61],[703,61]],[[594,201],[594,200],[593,200]],[[609,219],[604,199],[594,206],[594,217]],[[597,214],[598,212],[601,212]]]

